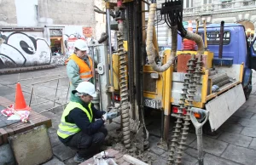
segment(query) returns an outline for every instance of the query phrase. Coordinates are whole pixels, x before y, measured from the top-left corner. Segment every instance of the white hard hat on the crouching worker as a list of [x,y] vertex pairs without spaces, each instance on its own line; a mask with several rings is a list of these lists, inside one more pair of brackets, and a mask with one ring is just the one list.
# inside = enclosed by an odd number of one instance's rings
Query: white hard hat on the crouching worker
[[95,86],[90,82],[79,83],[79,86],[76,88],[76,91],[78,91],[80,94],[89,94],[92,97],[97,96]]

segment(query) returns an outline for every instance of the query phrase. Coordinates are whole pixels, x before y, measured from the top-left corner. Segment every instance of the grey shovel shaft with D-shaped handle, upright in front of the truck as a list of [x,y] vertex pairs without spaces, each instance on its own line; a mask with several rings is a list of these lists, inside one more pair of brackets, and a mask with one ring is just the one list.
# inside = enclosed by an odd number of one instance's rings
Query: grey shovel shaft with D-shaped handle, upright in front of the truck
[[[198,122],[195,118],[194,113],[200,113],[203,121]],[[209,118],[209,111],[202,110],[200,108],[191,108],[190,119],[193,125],[195,126],[195,134],[197,138],[197,151],[198,151],[198,164],[204,164],[204,151],[203,151],[203,141],[202,141],[202,127],[207,122]]]

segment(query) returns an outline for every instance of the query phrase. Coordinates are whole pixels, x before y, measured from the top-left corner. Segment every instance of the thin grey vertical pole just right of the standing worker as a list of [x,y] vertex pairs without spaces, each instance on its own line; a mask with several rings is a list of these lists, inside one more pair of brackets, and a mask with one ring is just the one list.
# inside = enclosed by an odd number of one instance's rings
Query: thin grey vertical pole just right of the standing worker
[[[112,48],[111,48],[111,30],[110,30],[110,13],[109,13],[109,2],[106,3],[106,15],[107,15],[107,27],[108,27],[108,53],[110,57],[110,78],[111,87],[113,87],[113,62],[112,62]],[[114,107],[114,94],[112,92],[112,105]]]

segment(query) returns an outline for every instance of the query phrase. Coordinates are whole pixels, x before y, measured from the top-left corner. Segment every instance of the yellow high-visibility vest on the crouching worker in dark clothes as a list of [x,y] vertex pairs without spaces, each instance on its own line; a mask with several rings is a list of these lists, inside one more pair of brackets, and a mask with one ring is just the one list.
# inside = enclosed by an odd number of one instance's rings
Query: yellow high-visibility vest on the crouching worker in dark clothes
[[74,108],[79,108],[80,110],[84,111],[84,113],[88,117],[89,121],[90,122],[92,121],[93,114],[92,114],[92,111],[91,111],[91,103],[88,105],[88,108],[89,108],[89,111],[88,111],[86,108],[84,108],[83,105],[80,105],[79,103],[70,101],[68,103],[67,107],[65,108],[65,110],[63,111],[63,114],[61,116],[61,123],[59,124],[59,128],[58,128],[58,131],[57,131],[57,134],[62,139],[66,139],[68,136],[76,134],[80,131],[80,128],[76,124],[66,122],[66,120],[65,120],[67,115]]

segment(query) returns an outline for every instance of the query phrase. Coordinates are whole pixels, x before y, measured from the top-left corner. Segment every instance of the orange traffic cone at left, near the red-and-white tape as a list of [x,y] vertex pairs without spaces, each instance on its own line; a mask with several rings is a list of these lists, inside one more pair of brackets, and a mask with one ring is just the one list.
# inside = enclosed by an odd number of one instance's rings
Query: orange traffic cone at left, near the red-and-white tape
[[31,110],[31,108],[26,105],[26,100],[24,99],[24,95],[22,93],[20,83],[17,83],[17,87],[16,87],[15,110],[16,111]]

